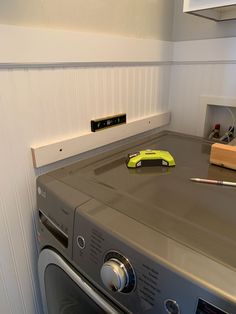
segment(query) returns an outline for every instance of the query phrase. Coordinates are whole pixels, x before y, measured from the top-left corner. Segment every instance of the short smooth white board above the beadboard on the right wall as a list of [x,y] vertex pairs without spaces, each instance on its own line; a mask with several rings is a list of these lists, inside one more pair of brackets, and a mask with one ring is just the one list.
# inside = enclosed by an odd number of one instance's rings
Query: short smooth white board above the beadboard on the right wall
[[236,37],[173,43],[174,62],[236,61]]

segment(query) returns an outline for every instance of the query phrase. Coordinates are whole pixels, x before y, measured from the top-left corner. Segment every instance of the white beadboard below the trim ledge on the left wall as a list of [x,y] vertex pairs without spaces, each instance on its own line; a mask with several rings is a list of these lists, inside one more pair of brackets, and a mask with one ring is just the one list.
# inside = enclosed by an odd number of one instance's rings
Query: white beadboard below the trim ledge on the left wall
[[45,169],[34,170],[30,146],[86,133],[104,115],[126,112],[132,121],[166,112],[169,72],[169,65],[0,69],[1,313],[42,314],[35,179]]

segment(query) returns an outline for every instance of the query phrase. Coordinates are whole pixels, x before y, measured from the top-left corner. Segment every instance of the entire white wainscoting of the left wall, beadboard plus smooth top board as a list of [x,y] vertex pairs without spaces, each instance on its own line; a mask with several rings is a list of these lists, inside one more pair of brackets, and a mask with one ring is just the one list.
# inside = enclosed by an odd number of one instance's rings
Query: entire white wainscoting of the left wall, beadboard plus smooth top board
[[41,314],[35,179],[64,163],[35,171],[30,146],[89,132],[92,118],[166,111],[172,45],[8,25],[0,34],[0,313]]

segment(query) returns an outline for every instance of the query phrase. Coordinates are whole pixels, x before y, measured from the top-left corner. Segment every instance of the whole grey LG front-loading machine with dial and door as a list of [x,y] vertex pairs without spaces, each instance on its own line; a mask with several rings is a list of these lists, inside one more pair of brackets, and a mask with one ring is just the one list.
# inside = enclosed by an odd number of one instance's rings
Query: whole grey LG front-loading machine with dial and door
[[[210,146],[163,132],[38,178],[45,312],[236,313],[235,189],[189,180],[236,181]],[[176,167],[128,169],[147,148]]]

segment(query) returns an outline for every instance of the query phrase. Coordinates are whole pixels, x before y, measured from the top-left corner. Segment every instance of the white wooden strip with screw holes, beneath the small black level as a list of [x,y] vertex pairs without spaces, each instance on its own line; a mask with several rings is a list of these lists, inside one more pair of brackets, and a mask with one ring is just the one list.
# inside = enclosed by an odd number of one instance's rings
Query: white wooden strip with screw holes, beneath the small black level
[[107,130],[90,132],[44,145],[35,145],[31,147],[33,164],[36,168],[45,166],[58,160],[167,125],[169,122],[170,112],[164,112]]

